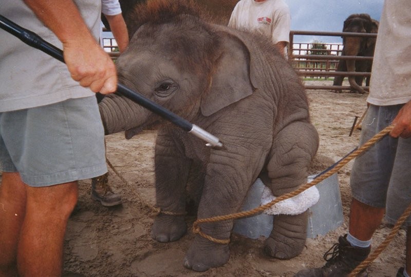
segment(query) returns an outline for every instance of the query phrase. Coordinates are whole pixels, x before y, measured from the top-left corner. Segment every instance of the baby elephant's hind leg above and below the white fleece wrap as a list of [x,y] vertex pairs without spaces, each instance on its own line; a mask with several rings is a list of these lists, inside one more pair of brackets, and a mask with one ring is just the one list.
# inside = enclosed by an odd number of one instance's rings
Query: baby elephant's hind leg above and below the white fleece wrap
[[[318,141],[315,128],[305,122],[292,123],[276,135],[267,174],[261,176],[274,196],[291,192],[307,182],[307,170]],[[308,211],[275,216],[264,252],[278,259],[291,259],[300,254],[307,238],[307,214]]]

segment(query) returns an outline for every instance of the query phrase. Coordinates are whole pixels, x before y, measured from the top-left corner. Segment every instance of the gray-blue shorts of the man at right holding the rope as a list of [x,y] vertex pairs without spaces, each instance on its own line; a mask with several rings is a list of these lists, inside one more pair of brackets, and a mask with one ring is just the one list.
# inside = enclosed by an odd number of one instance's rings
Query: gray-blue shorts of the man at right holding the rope
[[[362,124],[360,144],[393,122],[403,105],[370,105]],[[411,203],[411,138],[385,136],[358,156],[351,170],[352,196],[372,207],[386,208],[394,224]],[[411,218],[405,222],[411,226]]]

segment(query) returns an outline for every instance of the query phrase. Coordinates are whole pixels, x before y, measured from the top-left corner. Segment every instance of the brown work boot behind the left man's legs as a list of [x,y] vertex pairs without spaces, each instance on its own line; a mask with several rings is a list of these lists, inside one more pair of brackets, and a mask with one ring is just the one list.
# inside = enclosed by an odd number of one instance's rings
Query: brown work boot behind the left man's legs
[[108,185],[108,172],[91,179],[91,198],[101,205],[111,207],[122,203],[121,196],[114,193]]

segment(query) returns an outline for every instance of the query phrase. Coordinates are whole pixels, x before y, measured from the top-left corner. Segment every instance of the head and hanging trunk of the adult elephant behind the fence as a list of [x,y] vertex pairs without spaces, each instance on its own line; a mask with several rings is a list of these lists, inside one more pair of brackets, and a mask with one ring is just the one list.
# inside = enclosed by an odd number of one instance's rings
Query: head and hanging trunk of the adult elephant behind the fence
[[[354,32],[354,33],[377,33],[378,22],[372,19],[368,14],[351,14],[344,21],[343,32]],[[344,36],[344,55],[347,56],[365,56],[367,52],[372,51],[375,46],[375,38],[367,38],[361,36]],[[372,50],[371,50],[372,48]],[[356,61],[347,60],[347,71],[356,71]],[[354,76],[349,76],[348,81],[352,88],[356,89],[361,93],[366,91],[362,89],[356,82]]]

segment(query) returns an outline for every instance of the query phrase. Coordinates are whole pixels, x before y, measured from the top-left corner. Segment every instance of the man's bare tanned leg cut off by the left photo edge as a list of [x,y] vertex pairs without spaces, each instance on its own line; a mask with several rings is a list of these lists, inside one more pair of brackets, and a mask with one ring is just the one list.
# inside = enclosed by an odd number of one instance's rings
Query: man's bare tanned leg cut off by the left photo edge
[[0,276],[17,275],[18,235],[26,210],[26,188],[16,172],[2,173],[0,186]]

